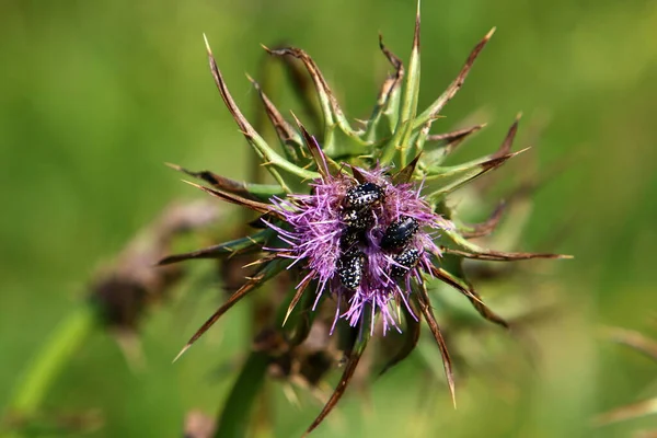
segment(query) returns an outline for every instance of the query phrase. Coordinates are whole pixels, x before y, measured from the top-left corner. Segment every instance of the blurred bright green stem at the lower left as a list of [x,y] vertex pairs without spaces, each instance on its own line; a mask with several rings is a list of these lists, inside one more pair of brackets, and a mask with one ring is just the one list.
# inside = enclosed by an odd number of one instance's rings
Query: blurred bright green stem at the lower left
[[53,382],[95,326],[92,307],[80,306],[50,335],[20,378],[8,405],[12,418],[33,417]]

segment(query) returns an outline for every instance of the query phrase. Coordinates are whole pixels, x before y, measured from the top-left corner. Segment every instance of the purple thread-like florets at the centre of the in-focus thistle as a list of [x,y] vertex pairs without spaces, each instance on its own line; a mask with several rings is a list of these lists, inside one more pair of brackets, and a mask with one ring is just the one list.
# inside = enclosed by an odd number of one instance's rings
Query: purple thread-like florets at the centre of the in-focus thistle
[[[440,250],[434,243],[434,238],[440,230],[451,229],[451,222],[435,214],[422,198],[422,186],[412,183],[393,184],[387,175],[385,168],[374,170],[355,169],[355,174],[362,175],[365,181],[358,182],[344,172],[337,175],[326,175],[314,181],[312,194],[290,195],[285,199],[274,198],[273,203],[280,212],[286,227],[268,222],[276,230],[280,240],[289,247],[269,249],[277,251],[281,257],[295,260],[290,265],[307,270],[301,285],[316,280],[316,297],[313,309],[320,301],[326,288],[337,301],[334,326],[337,319],[344,318],[351,326],[358,325],[366,309],[372,316],[380,312],[383,333],[389,328],[400,330],[396,307],[403,303],[411,314],[408,304],[411,281],[423,281],[422,270],[430,272],[433,257],[440,257]],[[364,183],[372,183],[380,187],[383,197],[380,203],[368,207],[371,211],[371,227],[362,231],[356,242],[345,244],[349,233],[349,223],[345,221],[345,197],[350,188]],[[381,241],[389,227],[400,218],[412,218],[418,224],[402,247],[383,249]],[[404,266],[395,261],[404,251],[415,250],[418,260],[412,266]],[[360,279],[355,288],[346,287],[341,281],[341,257],[348,251],[364,254],[364,265]],[[348,266],[346,267],[348,268]],[[401,272],[394,276],[391,273]],[[347,303],[348,309],[341,313],[341,304]],[[371,332],[374,330],[374,318],[371,318]]]

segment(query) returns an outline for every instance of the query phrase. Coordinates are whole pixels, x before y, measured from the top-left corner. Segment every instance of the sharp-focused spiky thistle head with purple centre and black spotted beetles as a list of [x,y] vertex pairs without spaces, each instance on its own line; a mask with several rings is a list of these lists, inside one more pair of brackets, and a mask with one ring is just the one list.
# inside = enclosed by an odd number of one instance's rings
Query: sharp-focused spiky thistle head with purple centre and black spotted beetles
[[308,315],[306,320],[297,319],[292,343],[298,344],[308,335],[313,310],[327,298],[335,307],[332,332],[345,320],[346,326],[357,333],[346,351],[342,380],[308,431],[320,424],[344,393],[378,320],[383,334],[394,328],[407,336],[405,346],[390,359],[385,369],[414,349],[419,336],[419,319],[426,320],[440,348],[454,397],[451,360],[429,300],[434,280],[452,286],[482,316],[507,326],[464,278],[463,258],[562,257],[480,247],[470,239],[492,232],[499,211],[482,224],[468,226],[446,203],[447,196],[457,188],[522,152],[511,152],[518,119],[496,152],[451,166],[442,164],[445,159],[482,126],[430,134],[438,115],[463,84],[493,32],[474,47],[448,89],[420,112],[417,108],[418,8],[407,70],[380,39],[380,48],[394,72],[383,82],[372,115],[361,129],[351,127],[320,69],[306,51],[293,47],[265,48],[275,57],[293,58],[304,66],[323,117],[322,131],[315,132],[316,137],[310,135],[296,117],[293,124],[286,120],[258,83],[250,78],[280,140],[278,150],[242,115],[206,39],[210,70],[223,102],[277,184],[241,183],[208,171],[192,172],[174,166],[209,186],[189,184],[262,215],[254,223],[260,230],[249,237],[160,262],[165,265],[191,258],[261,255],[256,273],[210,316],[181,354],[250,291],[288,270],[297,273],[299,281],[289,292],[289,304],[286,302],[288,306],[283,309],[280,320],[289,324],[293,314]]

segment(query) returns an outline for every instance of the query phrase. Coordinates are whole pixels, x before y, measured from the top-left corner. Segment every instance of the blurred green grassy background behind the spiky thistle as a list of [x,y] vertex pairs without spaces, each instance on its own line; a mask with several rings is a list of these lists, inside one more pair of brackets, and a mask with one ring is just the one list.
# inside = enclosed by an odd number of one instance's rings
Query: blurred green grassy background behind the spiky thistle
[[[348,115],[360,117],[388,68],[378,32],[406,59],[414,10],[406,0],[3,2],[0,406],[95,269],[171,199],[203,196],[163,162],[244,177],[247,147],[208,72],[203,33],[246,114],[253,90],[243,73],[256,73],[261,43],[287,41],[313,56]],[[655,417],[589,429],[595,414],[657,395],[654,361],[597,336],[602,325],[657,334],[657,2],[425,1],[424,104],[492,26],[492,43],[436,125],[483,108],[489,125],[463,151],[471,157],[493,151],[519,111],[525,127],[548,115],[535,145],[540,169],[568,166],[537,194],[519,250],[540,251],[566,227],[558,247],[546,250],[576,258],[540,266],[556,265],[544,280],[558,285],[567,323],[540,331],[540,362],[518,376],[511,397],[473,379],[453,411],[443,387],[427,401],[410,361],[373,384],[368,407],[347,393],[316,437],[657,429]],[[93,437],[181,436],[187,410],[220,405],[235,374],[219,365],[247,342],[238,310],[222,323],[234,330],[216,328],[172,366],[217,302],[205,299],[186,313],[165,304],[145,321],[143,372],[129,370],[110,336],[91,336],[44,410],[100,410],[104,426]],[[304,401],[299,410],[278,400],[275,436],[308,426],[320,406]]]

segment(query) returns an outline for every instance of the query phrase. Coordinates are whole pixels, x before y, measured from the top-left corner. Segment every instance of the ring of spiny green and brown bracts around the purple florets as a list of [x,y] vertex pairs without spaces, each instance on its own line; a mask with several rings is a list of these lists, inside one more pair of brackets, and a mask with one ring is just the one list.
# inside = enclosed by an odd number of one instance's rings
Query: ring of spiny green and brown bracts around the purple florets
[[[173,255],[160,262],[160,264],[169,264],[191,258],[222,258],[239,254],[252,255],[253,264],[257,266],[255,273],[245,280],[242,287],[196,332],[183,351],[200,337],[219,316],[250,291],[263,286],[268,279],[286,269],[297,272],[300,274],[298,278],[302,278],[302,280],[295,283],[296,288],[289,288],[287,291],[289,298],[280,307],[278,320],[281,325],[287,322],[286,331],[284,332],[280,328],[280,332],[284,334],[284,343],[289,348],[298,346],[306,339],[315,319],[316,312],[313,310],[315,310],[318,302],[323,300],[324,297],[318,297],[315,300],[312,292],[308,292],[316,289],[316,285],[309,287],[311,283],[316,283],[316,277],[304,273],[304,269],[308,269],[303,266],[303,257],[293,253],[292,246],[295,243],[290,239],[303,239],[303,237],[299,237],[300,233],[290,229],[291,223],[295,222],[290,218],[295,219],[295,203],[299,199],[302,199],[301,204],[303,201],[307,203],[306,207],[309,210],[315,208],[312,204],[312,196],[315,196],[311,189],[313,185],[316,188],[320,186],[319,182],[321,182],[324,184],[322,187],[328,187],[326,191],[334,196],[333,198],[335,198],[336,194],[338,197],[342,196],[341,193],[344,194],[344,186],[349,186],[349,184],[354,186],[364,182],[373,184],[376,181],[381,187],[388,187],[389,193],[395,193],[394,191],[396,189],[402,195],[405,193],[404,191],[411,193],[412,187],[422,185],[422,195],[418,194],[417,196],[422,196],[422,203],[424,203],[422,205],[427,206],[428,211],[425,216],[431,218],[431,215],[434,215],[437,218],[445,218],[446,223],[453,223],[453,226],[440,227],[439,233],[441,235],[437,244],[431,243],[431,245],[425,245],[415,250],[422,252],[425,249],[431,249],[429,250],[430,253],[423,255],[423,269],[415,269],[415,266],[412,266],[408,272],[413,270],[413,279],[410,278],[412,277],[411,275],[406,275],[408,303],[406,306],[397,303],[396,307],[397,318],[400,320],[403,318],[405,321],[404,335],[406,336],[406,341],[403,347],[390,358],[384,370],[404,359],[415,348],[419,337],[419,318],[424,318],[440,348],[447,381],[453,397],[454,389],[451,360],[429,300],[429,291],[435,285],[434,280],[440,280],[453,287],[470,300],[483,318],[506,327],[508,324],[505,320],[484,304],[482,298],[465,278],[462,269],[463,260],[516,261],[537,257],[564,257],[556,254],[498,252],[482,247],[473,243],[471,239],[491,233],[500,218],[502,210],[497,209],[491,219],[484,223],[465,226],[453,217],[452,211],[446,204],[446,197],[453,191],[498,168],[510,158],[522,152],[511,152],[511,145],[518,128],[518,119],[511,125],[500,147],[495,152],[457,165],[443,165],[443,161],[459,143],[480,130],[483,125],[447,134],[431,134],[434,122],[439,117],[445,105],[462,87],[474,60],[488,43],[493,32],[494,30],[488,32],[476,44],[463,68],[447,90],[429,107],[418,108],[420,90],[418,11],[415,21],[415,35],[411,58],[406,68],[380,41],[380,48],[394,71],[381,85],[369,119],[361,122],[362,125],[359,128],[351,126],[347,117],[345,117],[322,72],[306,51],[293,47],[265,48],[274,57],[283,57],[288,60],[292,58],[304,67],[316,92],[321,108],[321,129],[319,132],[311,135],[296,117],[292,116],[293,120],[291,122],[286,120],[281,112],[272,103],[258,83],[250,78],[258,92],[269,120],[275,127],[279,141],[278,146],[269,145],[243,116],[228,91],[228,87],[206,39],[210,70],[221,97],[238,123],[240,130],[257,152],[263,165],[268,170],[277,184],[241,183],[207,171],[191,172],[183,168],[174,166],[174,169],[198,177],[208,184],[208,186],[194,184],[206,193],[247,207],[262,215],[260,228],[264,228],[243,239],[192,253]],[[389,172],[388,170],[393,171]],[[370,171],[373,173],[370,173]],[[372,175],[376,175],[376,177]],[[414,182],[416,183],[415,185],[413,184]],[[309,196],[303,197],[303,195]],[[310,200],[308,200],[309,198]],[[314,205],[326,205],[326,203],[315,203]],[[289,206],[290,210],[281,210],[283,206]],[[342,207],[338,204],[337,209],[339,208]],[[299,215],[304,214],[302,208],[299,211]],[[313,210],[313,212],[316,211]],[[335,215],[333,216],[335,217]],[[335,221],[335,219],[333,220]],[[263,227],[263,223],[268,226],[268,228]],[[337,220],[337,223],[339,226],[339,220]],[[337,235],[333,231],[331,233],[327,232],[327,234]],[[429,239],[426,235],[425,239]],[[288,239],[284,239],[285,237]],[[372,240],[371,237],[367,239]],[[339,256],[339,251],[342,251],[339,250],[339,244],[337,246],[334,245],[334,247],[337,247]],[[374,253],[370,252],[370,254],[380,254],[376,253],[376,251],[380,251],[377,245],[373,245],[373,250],[370,246],[369,251],[374,251]],[[365,257],[365,255],[362,256]],[[390,254],[387,254],[387,256],[390,256]],[[290,267],[293,268],[290,269]],[[383,269],[379,270],[384,273]],[[333,278],[332,276],[333,272],[331,272],[330,280]],[[391,281],[390,278],[388,280],[387,285]],[[320,291],[323,290],[327,281],[325,278],[322,280]],[[392,280],[392,283],[394,281]],[[339,312],[339,303],[341,301],[338,300],[336,314]],[[344,393],[356,365],[373,333],[373,330],[364,330],[364,327],[369,327],[370,325],[373,327],[377,309],[371,308],[370,310],[371,312],[364,311],[361,313],[362,321],[359,322],[357,327],[350,326],[346,328],[357,328],[357,332],[351,336],[353,341],[346,347],[346,365],[343,378],[324,410],[308,431],[319,425]],[[337,316],[335,320],[337,320]],[[338,327],[338,330],[341,328]],[[264,372],[265,367],[258,368],[254,365],[253,360],[257,362],[258,357],[266,357],[266,355],[263,356],[262,351],[258,351],[257,355],[260,356],[252,357],[247,362],[249,369],[258,369]],[[246,384],[244,383],[245,381],[249,381],[249,379],[242,376],[231,396],[237,397],[235,391],[244,391],[244,393],[249,394],[257,392],[254,392],[251,387],[249,387],[249,390],[239,388],[240,384]],[[256,379],[253,381],[260,382],[261,380]],[[244,406],[241,407],[244,410]],[[227,410],[230,410],[230,407],[227,407]],[[245,411],[247,412],[247,410]],[[232,414],[223,415],[223,418],[229,418],[227,422],[234,426],[235,422],[231,423],[231,417]],[[230,426],[220,425],[220,427],[226,427],[224,433],[227,434],[229,430],[232,430]]]

